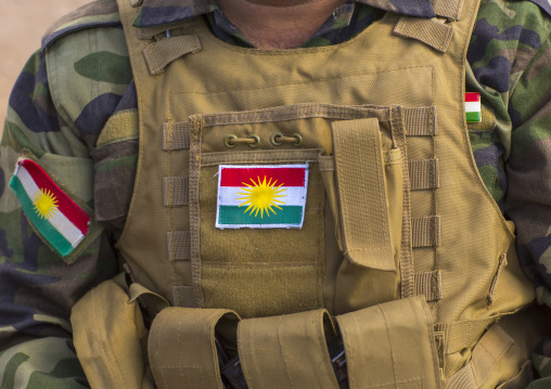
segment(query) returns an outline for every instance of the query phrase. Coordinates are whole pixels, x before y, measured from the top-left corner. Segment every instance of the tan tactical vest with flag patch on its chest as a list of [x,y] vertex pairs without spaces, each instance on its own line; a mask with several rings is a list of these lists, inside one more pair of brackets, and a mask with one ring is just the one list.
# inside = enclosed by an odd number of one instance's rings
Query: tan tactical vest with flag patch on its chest
[[[387,13],[341,44],[265,51],[202,18],[134,28],[139,7],[119,0],[140,157],[118,249],[134,278],[174,306],[241,317],[423,295],[444,376],[470,366],[480,379],[473,347],[534,291],[466,132],[478,2],[435,3],[443,17]],[[309,166],[302,229],[215,228],[219,165],[287,164]],[[491,368],[511,347],[496,342]]]

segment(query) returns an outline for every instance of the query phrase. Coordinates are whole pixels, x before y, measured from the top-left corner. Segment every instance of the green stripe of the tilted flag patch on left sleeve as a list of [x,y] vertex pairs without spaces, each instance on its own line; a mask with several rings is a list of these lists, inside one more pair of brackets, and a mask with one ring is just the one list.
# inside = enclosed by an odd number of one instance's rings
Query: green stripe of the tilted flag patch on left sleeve
[[33,223],[33,225],[35,225],[50,246],[62,257],[71,254],[74,249],[73,245],[48,220],[41,219],[35,212],[33,202],[28,197],[27,192],[16,176],[12,177],[10,187],[13,189],[15,195],[20,199],[21,206],[28,220]]

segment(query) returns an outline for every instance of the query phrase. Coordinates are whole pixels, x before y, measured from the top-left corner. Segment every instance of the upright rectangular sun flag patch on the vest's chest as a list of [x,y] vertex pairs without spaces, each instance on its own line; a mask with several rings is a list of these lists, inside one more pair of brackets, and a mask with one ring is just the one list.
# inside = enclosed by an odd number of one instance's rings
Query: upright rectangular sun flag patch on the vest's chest
[[308,165],[220,165],[218,229],[300,229]]

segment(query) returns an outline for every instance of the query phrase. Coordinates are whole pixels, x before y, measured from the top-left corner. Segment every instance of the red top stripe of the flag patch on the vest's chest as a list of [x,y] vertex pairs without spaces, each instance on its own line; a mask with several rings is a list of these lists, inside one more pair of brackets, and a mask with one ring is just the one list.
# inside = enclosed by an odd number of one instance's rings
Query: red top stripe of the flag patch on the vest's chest
[[270,181],[277,180],[276,186],[304,186],[305,168],[222,168],[220,186],[244,186],[253,184],[251,179]]

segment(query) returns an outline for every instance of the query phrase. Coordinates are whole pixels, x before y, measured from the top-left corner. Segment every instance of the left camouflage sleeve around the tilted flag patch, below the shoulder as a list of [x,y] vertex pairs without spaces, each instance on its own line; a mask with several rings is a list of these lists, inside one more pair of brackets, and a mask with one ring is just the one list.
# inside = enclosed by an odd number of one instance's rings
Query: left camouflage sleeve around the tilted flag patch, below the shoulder
[[105,232],[73,264],[35,233],[8,185],[23,150],[92,208],[89,148],[56,111],[42,52],[16,81],[0,146],[0,388],[88,387],[72,345],[71,308],[117,264]]

